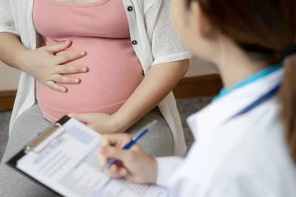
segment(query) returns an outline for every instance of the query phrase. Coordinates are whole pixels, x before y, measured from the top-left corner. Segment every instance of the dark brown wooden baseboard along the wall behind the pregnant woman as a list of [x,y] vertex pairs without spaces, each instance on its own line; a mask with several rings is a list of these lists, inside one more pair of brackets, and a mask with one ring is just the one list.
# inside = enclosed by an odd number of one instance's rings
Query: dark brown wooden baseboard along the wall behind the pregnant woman
[[[176,98],[214,96],[222,88],[221,77],[218,74],[196,76],[182,79],[174,88]],[[17,91],[0,92],[0,111],[13,107]]]

